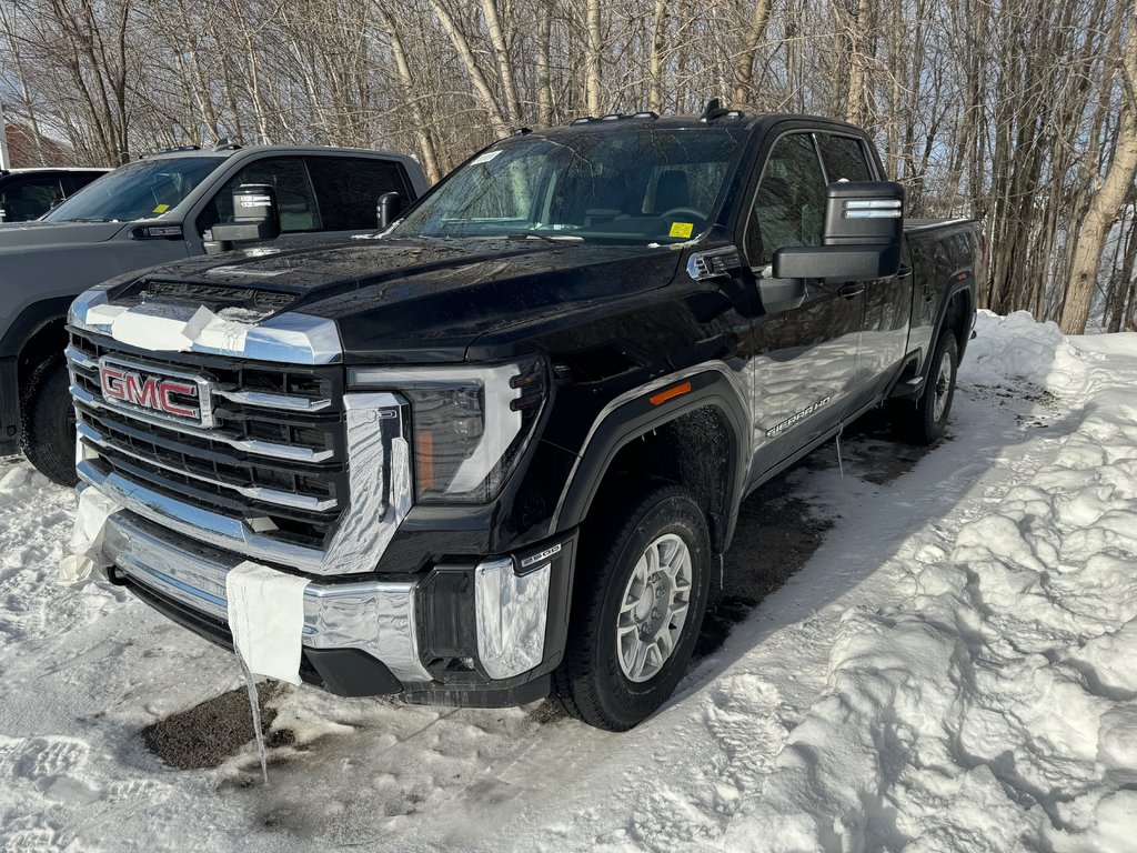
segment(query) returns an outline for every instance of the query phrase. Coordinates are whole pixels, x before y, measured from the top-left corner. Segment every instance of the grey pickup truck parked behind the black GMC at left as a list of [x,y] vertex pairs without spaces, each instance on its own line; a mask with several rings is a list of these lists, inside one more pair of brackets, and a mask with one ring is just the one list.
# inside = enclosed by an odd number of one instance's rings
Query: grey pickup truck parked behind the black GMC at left
[[0,455],[23,448],[44,475],[75,482],[75,420],[63,350],[67,306],[88,288],[217,248],[233,190],[274,188],[280,227],[310,239],[374,229],[376,199],[414,200],[428,182],[404,155],[227,143],[122,166],[35,222],[0,226]]

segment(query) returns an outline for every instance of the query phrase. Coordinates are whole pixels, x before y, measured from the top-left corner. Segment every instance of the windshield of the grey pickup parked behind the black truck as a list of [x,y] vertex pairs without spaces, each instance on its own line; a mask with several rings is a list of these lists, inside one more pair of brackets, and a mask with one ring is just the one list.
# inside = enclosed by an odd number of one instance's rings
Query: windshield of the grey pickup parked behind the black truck
[[224,157],[159,157],[116,168],[44,216],[47,222],[132,222],[160,217],[209,176]]

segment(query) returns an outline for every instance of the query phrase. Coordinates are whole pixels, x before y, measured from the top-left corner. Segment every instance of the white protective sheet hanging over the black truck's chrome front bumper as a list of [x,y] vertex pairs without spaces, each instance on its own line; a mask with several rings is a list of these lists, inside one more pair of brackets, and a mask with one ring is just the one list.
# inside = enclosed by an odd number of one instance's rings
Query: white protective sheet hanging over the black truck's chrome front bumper
[[300,684],[305,578],[244,561],[225,575],[229,628],[241,660],[257,676]]

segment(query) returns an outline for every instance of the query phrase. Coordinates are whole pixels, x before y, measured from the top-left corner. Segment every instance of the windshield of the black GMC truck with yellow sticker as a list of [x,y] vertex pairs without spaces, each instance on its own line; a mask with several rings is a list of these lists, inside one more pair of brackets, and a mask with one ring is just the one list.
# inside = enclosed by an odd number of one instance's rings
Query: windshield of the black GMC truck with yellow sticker
[[700,233],[745,135],[725,129],[580,129],[499,142],[392,237],[675,242]]

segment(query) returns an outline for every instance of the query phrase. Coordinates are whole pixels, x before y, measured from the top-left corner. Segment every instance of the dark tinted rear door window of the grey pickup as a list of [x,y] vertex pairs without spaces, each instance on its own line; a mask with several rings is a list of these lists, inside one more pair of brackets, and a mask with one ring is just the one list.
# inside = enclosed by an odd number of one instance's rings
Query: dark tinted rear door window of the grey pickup
[[375,201],[384,192],[412,200],[402,166],[362,157],[307,157],[319,213],[327,231],[375,227]]

